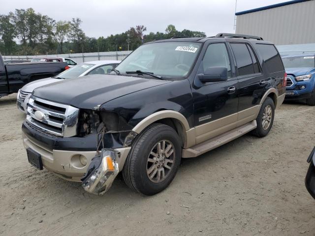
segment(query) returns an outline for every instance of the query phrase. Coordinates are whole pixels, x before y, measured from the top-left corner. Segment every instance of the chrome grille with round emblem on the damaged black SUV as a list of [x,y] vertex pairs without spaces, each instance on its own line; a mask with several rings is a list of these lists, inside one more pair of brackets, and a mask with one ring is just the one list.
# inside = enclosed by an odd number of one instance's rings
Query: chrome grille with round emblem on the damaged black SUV
[[26,119],[44,133],[72,137],[76,135],[78,114],[78,108],[31,96]]

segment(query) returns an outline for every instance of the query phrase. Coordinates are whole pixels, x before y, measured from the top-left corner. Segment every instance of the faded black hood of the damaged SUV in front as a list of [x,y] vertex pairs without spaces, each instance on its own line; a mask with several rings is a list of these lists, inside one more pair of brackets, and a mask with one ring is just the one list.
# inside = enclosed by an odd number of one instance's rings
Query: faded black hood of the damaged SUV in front
[[88,75],[40,87],[33,95],[77,108],[93,109],[126,94],[170,82],[119,75]]

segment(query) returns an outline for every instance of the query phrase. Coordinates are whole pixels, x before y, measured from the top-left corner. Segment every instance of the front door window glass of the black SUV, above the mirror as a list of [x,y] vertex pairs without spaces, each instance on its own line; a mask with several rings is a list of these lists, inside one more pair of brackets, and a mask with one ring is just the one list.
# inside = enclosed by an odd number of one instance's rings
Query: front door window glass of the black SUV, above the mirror
[[210,44],[203,58],[203,69],[223,66],[227,68],[227,77],[231,77],[231,65],[224,43]]

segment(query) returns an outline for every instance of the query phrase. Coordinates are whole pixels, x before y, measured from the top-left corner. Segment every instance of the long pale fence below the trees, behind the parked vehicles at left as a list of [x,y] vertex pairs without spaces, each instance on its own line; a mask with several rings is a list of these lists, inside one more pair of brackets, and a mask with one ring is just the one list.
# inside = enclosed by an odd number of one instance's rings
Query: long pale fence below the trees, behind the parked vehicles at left
[[55,55],[36,55],[36,56],[2,56],[3,60],[32,60],[33,58],[69,58],[77,63],[92,61],[92,60],[123,60],[132,51],[116,51],[116,52],[96,52],[96,53],[72,53],[72,54],[55,54]]

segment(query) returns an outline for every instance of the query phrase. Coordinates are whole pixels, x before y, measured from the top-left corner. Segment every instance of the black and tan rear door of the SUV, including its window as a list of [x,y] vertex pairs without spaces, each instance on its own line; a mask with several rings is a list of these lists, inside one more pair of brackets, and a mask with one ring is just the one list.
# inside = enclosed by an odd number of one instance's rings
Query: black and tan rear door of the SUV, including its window
[[259,110],[259,98],[264,93],[267,83],[252,46],[246,42],[231,42],[230,46],[235,59],[239,86],[238,120],[244,120],[243,123],[246,123],[255,119]]

